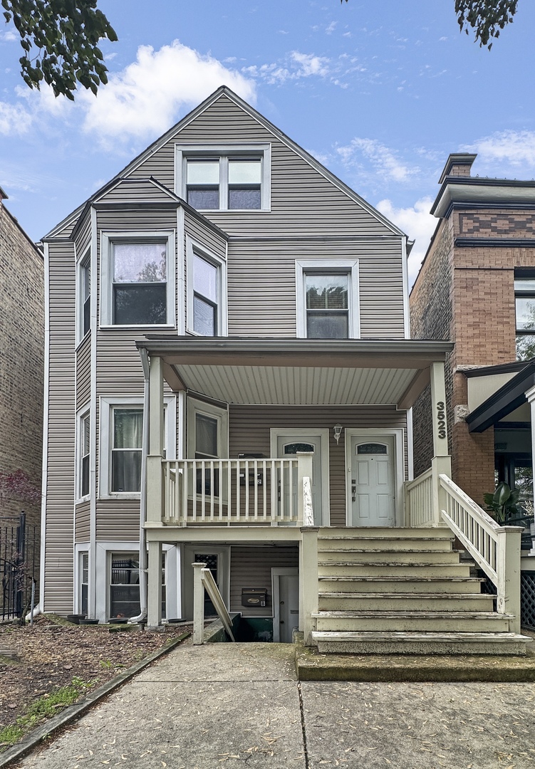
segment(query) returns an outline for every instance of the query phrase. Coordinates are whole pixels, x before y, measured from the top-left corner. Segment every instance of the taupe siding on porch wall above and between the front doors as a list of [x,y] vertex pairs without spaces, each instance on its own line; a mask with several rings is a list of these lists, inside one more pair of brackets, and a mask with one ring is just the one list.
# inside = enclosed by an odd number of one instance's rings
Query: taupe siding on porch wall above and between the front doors
[[[230,406],[230,457],[256,451],[269,457],[270,428],[329,428],[330,522],[333,526],[343,526],[346,523],[346,456],[344,437],[340,438],[339,444],[332,437],[333,424],[337,422],[344,428],[376,428],[379,432],[381,428],[406,428],[406,412],[396,411],[394,407],[366,406]],[[404,435],[407,477],[406,431]]]

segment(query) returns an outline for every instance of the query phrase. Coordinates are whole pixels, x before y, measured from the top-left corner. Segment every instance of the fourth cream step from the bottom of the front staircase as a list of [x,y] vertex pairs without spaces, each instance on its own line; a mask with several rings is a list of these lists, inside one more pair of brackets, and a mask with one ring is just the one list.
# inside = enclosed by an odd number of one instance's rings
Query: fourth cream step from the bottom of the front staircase
[[483,579],[476,577],[319,577],[319,590],[350,593],[444,593],[479,591]]

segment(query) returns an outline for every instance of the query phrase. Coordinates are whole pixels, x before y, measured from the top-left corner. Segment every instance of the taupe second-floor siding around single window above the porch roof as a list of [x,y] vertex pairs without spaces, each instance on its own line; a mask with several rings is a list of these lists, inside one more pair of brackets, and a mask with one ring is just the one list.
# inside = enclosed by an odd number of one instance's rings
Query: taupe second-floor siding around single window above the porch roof
[[[229,335],[296,336],[296,260],[359,260],[362,338],[403,338],[399,238],[229,243]],[[254,308],[254,311],[252,311]]]

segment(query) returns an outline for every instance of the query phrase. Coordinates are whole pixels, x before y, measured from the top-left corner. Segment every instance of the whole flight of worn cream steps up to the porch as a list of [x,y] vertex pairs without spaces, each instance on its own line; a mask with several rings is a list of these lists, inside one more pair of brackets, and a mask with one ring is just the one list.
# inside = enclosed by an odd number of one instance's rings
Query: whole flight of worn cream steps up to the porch
[[319,652],[525,654],[447,528],[321,528]]

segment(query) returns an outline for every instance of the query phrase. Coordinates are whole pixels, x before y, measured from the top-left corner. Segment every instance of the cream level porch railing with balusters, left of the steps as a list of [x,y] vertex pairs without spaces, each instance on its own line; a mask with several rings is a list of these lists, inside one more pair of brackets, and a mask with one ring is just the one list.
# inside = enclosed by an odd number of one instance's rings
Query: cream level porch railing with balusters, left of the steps
[[163,523],[296,525],[303,470],[299,456],[162,460]]

